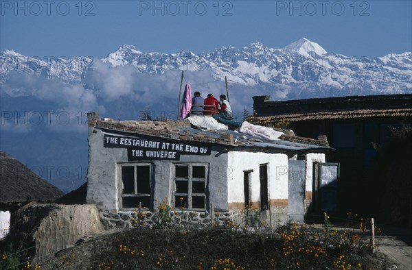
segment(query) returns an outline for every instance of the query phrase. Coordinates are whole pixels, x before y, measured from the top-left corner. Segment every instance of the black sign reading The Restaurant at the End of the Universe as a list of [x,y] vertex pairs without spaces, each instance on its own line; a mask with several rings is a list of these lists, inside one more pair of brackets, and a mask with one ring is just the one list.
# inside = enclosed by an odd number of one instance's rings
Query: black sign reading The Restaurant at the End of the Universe
[[211,146],[196,143],[181,143],[163,138],[140,138],[138,136],[104,135],[104,147],[126,148],[128,160],[179,160],[180,155],[205,155]]

